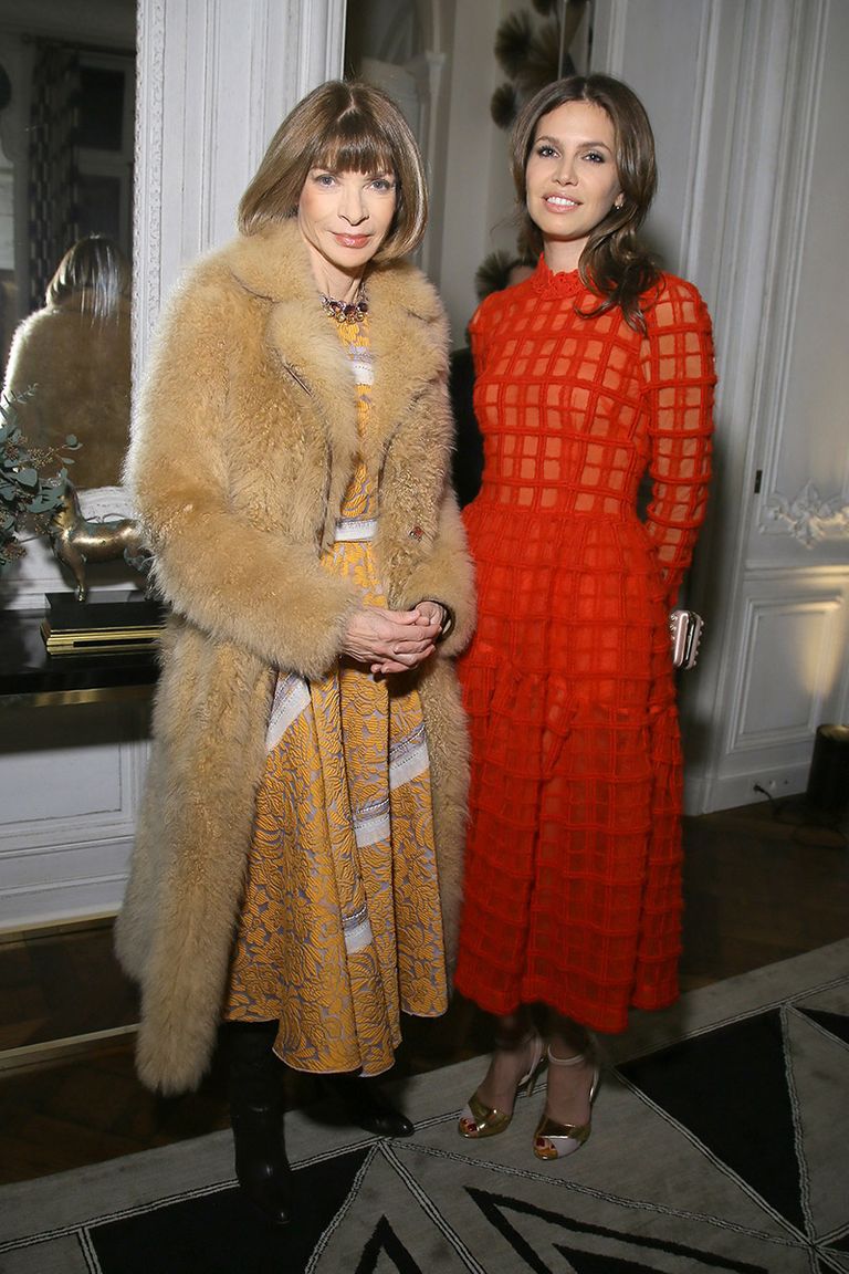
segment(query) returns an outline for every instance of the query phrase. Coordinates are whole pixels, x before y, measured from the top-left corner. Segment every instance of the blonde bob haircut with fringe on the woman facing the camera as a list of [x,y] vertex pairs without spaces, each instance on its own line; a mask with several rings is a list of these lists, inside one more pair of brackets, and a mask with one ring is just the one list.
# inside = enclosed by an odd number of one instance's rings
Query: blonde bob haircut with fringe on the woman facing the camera
[[256,234],[265,225],[295,217],[313,168],[395,176],[395,217],[375,262],[406,256],[421,242],[428,223],[421,154],[401,111],[381,89],[328,80],[289,112],[242,196],[242,233]]

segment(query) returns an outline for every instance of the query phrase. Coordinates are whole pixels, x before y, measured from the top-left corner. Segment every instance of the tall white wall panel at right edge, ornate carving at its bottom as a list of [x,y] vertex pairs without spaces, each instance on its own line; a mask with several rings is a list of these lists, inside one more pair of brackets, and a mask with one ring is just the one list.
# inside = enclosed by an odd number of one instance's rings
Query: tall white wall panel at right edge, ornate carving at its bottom
[[770,223],[769,341],[755,404],[764,479],[750,552],[803,559],[816,539],[826,559],[845,561],[849,362],[835,357],[835,338],[846,333],[849,260],[831,251],[830,233],[834,210],[849,201],[849,166],[835,162],[849,110],[849,6],[793,5],[790,18],[776,111],[775,191],[783,197]]

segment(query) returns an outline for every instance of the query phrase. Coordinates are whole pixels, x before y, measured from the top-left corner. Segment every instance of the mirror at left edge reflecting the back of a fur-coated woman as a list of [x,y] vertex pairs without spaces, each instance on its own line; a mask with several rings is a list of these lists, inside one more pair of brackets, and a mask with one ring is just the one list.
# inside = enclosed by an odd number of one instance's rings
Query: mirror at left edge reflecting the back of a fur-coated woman
[[4,387],[81,488],[129,437],[134,115],[135,0],[0,0]]

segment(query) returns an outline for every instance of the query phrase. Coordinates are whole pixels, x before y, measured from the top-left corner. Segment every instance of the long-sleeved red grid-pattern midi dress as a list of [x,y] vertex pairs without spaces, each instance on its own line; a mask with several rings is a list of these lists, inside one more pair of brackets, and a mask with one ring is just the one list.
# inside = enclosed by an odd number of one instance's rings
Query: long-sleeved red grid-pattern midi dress
[[[456,982],[597,1031],[677,995],[681,757],[670,655],[703,521],[710,320],[666,275],[648,335],[541,259],[471,325],[484,485],[461,660],[471,823]],[[652,499],[638,516],[645,473]]]

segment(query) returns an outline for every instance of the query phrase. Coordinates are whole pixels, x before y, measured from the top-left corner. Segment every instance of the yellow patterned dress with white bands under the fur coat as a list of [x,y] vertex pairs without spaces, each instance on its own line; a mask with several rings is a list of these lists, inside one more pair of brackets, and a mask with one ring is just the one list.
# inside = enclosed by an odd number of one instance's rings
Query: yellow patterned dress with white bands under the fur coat
[[[336,324],[369,426],[368,316]],[[322,559],[386,605],[372,539],[378,493],[358,466]],[[444,947],[421,705],[409,679],[341,660],[326,678],[277,676],[244,903],[224,1017],[276,1019],[297,1070],[393,1061],[400,1013],[447,1008]]]

